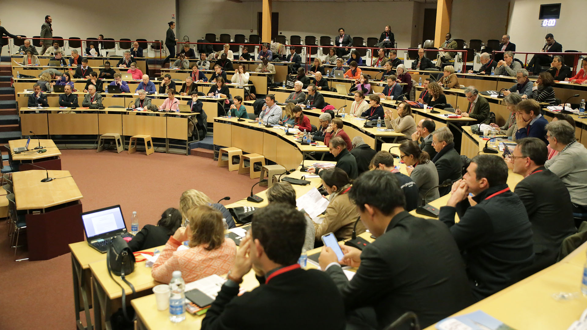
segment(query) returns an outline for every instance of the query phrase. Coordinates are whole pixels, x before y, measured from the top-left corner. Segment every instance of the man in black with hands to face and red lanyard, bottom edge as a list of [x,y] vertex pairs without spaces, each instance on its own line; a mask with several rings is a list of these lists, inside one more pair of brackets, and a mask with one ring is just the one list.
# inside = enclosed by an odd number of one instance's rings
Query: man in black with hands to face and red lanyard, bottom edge
[[[344,305],[332,280],[297,264],[305,233],[304,215],[292,206],[271,203],[257,211],[202,329],[345,329]],[[260,285],[239,297],[239,284],[251,270]],[[302,307],[312,312],[301,313]]]

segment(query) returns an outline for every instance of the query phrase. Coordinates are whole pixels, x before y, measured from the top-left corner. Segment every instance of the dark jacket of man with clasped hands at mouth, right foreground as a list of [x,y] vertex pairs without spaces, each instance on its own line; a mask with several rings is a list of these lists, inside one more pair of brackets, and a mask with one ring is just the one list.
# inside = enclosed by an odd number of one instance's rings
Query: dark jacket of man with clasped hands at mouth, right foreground
[[507,184],[489,187],[473,200],[477,205],[465,198],[456,207],[441,207],[438,220],[450,228],[463,252],[473,294],[480,300],[521,280],[534,251],[524,204]]

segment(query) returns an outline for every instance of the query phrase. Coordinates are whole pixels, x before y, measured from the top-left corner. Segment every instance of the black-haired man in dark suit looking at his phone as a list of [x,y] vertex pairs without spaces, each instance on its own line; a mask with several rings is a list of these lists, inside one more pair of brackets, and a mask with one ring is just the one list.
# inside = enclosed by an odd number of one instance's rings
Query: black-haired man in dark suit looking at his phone
[[[412,311],[425,328],[470,305],[463,260],[450,232],[440,221],[404,210],[406,200],[393,173],[367,171],[349,194],[377,240],[362,251],[341,245],[343,260],[325,247],[319,264],[342,293],[353,324],[382,329]],[[352,280],[339,261],[358,267]]]

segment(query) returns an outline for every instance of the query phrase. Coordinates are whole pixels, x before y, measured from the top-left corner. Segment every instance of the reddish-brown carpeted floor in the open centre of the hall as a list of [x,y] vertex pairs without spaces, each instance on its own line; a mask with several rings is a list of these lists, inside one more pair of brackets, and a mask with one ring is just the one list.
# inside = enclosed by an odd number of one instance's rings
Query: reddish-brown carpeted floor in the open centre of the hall
[[[257,181],[195,156],[62,153],[62,169],[71,172],[82,191],[83,210],[120,204],[129,230],[132,211],[137,211],[140,227],[156,224],[166,208],[179,207],[179,197],[187,189],[201,190],[214,202],[225,196],[236,201],[247,197]],[[264,189],[255,186],[254,191]],[[0,329],[75,329],[70,254],[15,262],[6,230],[6,221],[0,220]]]

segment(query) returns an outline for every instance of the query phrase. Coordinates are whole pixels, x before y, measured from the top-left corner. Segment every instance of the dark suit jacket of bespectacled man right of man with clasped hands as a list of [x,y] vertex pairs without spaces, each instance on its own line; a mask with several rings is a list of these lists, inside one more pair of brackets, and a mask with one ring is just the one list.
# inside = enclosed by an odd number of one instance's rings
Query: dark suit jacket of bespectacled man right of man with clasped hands
[[524,203],[532,224],[535,260],[526,274],[531,275],[554,264],[562,240],[577,232],[571,195],[561,179],[544,166],[519,181],[514,193]]

